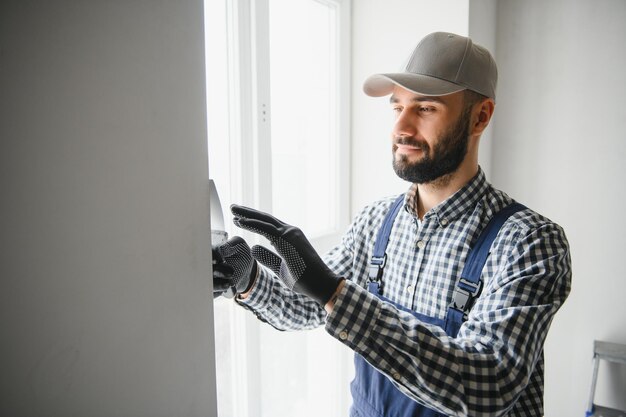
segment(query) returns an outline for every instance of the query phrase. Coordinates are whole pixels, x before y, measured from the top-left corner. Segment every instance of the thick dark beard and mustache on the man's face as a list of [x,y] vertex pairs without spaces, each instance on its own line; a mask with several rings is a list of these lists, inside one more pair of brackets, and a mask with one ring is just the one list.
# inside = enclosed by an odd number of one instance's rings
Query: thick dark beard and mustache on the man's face
[[[467,155],[471,107],[459,116],[456,124],[448,129],[431,147],[414,137],[398,137],[394,143],[420,147],[424,157],[411,162],[406,155],[393,158],[393,169],[405,181],[426,184],[455,172]],[[395,153],[396,146],[393,146]]]

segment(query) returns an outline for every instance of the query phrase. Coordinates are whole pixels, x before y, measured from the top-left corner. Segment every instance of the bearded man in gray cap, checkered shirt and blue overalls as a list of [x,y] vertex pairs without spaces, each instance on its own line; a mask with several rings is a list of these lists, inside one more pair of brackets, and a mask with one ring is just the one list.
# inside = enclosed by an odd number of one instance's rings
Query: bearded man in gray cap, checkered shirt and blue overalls
[[364,208],[323,260],[299,229],[232,207],[280,257],[233,238],[214,251],[216,291],[279,329],[325,325],[354,350],[351,416],[543,415],[543,343],[569,294],[569,248],[478,166],[496,79],[486,49],[433,33],[403,73],[365,81],[390,95],[393,167],[413,185]]

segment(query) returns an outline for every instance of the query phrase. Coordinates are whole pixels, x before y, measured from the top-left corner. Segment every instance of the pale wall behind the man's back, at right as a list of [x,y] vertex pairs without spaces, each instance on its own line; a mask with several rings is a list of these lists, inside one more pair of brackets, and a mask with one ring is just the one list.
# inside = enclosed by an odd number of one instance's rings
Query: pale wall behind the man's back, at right
[[[572,253],[546,344],[548,417],[583,415],[594,339],[626,343],[625,40],[622,0],[498,2],[493,180],[560,223]],[[626,409],[624,368],[600,370],[598,402]]]

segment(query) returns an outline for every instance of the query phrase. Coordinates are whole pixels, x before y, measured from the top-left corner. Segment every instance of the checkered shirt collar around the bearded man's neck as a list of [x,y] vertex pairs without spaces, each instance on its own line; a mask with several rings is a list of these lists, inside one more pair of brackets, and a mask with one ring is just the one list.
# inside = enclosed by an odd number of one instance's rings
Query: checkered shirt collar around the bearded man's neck
[[[461,189],[450,197],[433,207],[424,215],[424,221],[430,217],[437,218],[438,222],[445,226],[450,221],[460,215],[473,211],[476,204],[482,200],[487,190],[491,187],[485,178],[482,168],[478,168],[478,173],[465,184]],[[406,210],[417,217],[417,184],[412,184],[405,195]]]

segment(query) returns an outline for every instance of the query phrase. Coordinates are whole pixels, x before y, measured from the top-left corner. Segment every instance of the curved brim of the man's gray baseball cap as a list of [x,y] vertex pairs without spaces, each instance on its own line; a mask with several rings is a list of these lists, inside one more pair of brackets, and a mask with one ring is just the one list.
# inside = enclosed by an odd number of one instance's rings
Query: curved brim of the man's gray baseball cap
[[363,91],[371,97],[382,97],[391,94],[396,85],[425,96],[445,96],[466,89],[459,84],[428,75],[396,73],[370,76],[363,83]]

